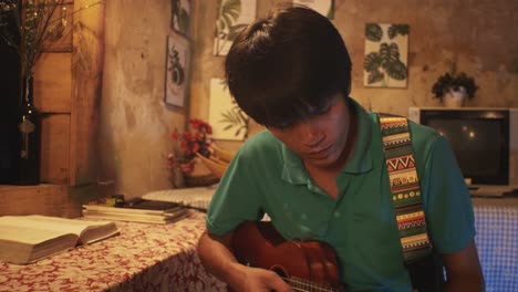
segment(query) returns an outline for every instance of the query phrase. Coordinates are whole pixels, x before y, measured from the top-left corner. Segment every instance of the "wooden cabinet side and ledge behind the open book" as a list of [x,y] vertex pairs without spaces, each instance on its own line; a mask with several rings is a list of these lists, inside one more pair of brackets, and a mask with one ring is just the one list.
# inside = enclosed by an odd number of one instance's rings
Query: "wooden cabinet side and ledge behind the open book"
[[[70,11],[90,4],[73,0]],[[81,205],[114,194],[99,185],[96,150],[104,60],[104,6],[70,13],[70,31],[34,66],[34,98],[42,112],[41,181],[0,185],[0,216],[81,216]]]

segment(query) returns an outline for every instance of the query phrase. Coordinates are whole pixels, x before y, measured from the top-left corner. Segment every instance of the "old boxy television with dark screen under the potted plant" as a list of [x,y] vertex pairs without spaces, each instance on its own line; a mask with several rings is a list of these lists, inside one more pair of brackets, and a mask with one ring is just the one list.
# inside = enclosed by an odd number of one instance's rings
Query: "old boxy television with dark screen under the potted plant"
[[472,195],[518,190],[518,108],[410,107],[408,118],[448,139]]

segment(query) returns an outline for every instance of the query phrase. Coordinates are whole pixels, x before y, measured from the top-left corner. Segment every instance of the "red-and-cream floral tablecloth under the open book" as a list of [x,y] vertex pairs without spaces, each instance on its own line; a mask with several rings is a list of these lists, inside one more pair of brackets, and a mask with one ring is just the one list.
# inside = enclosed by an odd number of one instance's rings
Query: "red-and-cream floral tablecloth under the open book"
[[28,265],[0,262],[0,291],[226,291],[196,253],[205,213],[169,225],[116,222],[121,234]]

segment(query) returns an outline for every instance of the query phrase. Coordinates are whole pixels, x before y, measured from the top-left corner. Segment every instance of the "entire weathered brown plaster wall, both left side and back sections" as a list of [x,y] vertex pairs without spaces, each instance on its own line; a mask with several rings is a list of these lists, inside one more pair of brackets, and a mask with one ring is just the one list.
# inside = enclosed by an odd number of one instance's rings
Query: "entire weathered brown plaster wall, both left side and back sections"
[[[120,192],[141,196],[168,187],[163,161],[169,132],[182,128],[185,116],[208,118],[209,80],[222,76],[224,58],[213,56],[218,1],[191,1],[194,59],[185,113],[163,103],[169,0],[107,1],[101,179],[115,180]],[[274,2],[258,0],[258,15]],[[480,86],[468,106],[518,106],[518,1],[335,0],[335,8],[333,22],[354,63],[352,96],[365,107],[406,114],[411,105],[439,105],[431,87],[453,61]],[[367,22],[410,24],[407,88],[363,86]],[[253,125],[251,133],[259,128]]]

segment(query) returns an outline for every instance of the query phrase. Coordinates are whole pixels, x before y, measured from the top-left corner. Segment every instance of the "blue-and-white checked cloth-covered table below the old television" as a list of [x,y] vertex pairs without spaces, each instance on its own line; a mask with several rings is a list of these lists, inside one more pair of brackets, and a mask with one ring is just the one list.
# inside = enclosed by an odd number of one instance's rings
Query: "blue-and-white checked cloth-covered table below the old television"
[[473,198],[487,292],[518,291],[518,197]]

